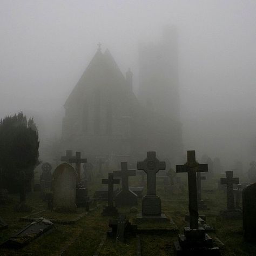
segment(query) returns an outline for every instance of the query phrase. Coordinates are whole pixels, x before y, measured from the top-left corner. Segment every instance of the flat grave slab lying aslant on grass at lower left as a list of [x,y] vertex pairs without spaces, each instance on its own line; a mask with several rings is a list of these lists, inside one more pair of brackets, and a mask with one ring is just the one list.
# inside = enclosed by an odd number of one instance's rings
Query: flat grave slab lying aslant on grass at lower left
[[39,218],[33,221],[21,231],[10,237],[1,246],[11,248],[21,248],[42,234],[50,232],[53,228],[51,221]]

